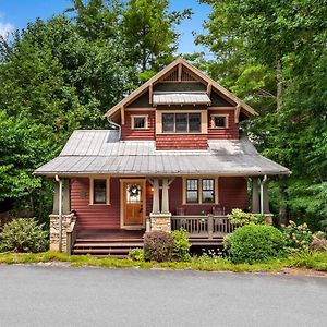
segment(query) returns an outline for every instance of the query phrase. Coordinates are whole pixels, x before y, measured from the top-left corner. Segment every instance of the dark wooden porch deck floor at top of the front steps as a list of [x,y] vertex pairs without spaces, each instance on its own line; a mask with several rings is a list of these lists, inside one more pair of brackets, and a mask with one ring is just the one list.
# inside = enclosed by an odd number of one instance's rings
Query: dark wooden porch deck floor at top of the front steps
[[80,229],[77,240],[140,240],[143,241],[145,230],[122,230],[122,229]]

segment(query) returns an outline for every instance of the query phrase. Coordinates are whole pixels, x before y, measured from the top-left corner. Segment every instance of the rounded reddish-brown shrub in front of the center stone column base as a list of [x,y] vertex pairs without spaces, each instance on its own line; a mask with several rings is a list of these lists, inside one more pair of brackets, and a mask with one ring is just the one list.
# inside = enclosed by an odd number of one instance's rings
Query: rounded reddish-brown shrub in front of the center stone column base
[[146,261],[167,262],[173,251],[172,235],[164,231],[152,231],[144,237],[144,258]]

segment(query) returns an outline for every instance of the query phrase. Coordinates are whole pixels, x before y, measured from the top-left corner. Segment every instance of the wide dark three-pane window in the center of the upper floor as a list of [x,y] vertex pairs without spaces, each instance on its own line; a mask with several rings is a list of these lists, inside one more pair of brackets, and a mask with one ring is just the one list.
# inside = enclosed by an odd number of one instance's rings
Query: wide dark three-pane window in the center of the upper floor
[[164,133],[199,133],[201,113],[162,113]]

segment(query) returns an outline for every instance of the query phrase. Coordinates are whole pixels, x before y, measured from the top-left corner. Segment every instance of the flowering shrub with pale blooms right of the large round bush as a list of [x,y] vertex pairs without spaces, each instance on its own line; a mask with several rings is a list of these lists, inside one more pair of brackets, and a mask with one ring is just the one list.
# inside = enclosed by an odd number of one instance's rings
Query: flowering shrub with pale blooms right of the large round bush
[[287,237],[287,246],[292,250],[308,250],[308,245],[314,239],[306,223],[296,225],[290,220],[289,226],[282,227],[281,230]]

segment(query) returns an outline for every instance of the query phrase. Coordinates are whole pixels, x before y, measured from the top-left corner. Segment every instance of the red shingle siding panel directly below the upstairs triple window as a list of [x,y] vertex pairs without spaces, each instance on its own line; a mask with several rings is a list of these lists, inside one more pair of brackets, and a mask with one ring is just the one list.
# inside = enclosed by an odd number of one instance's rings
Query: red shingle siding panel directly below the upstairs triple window
[[207,149],[207,134],[158,134],[157,149]]

